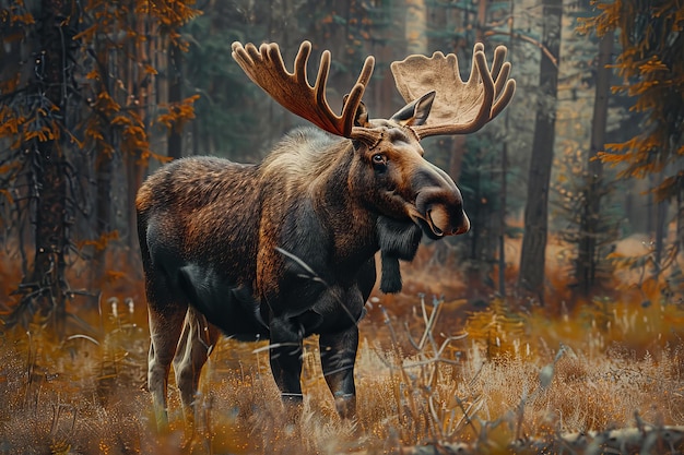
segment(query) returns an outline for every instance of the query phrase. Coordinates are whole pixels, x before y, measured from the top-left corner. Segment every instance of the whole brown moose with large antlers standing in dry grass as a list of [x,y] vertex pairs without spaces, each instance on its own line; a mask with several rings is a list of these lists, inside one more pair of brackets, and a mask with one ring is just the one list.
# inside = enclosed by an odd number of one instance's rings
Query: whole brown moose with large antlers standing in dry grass
[[328,50],[310,85],[308,41],[294,72],[276,44],[232,49],[252,82],[317,128],[290,132],[259,164],[181,158],[140,188],[148,385],[157,422],[168,419],[172,363],[185,418],[193,421],[200,371],[221,333],[270,340],[286,405],[302,403],[303,339],[318,334],[335,408],[354,418],[357,324],[376,283],[376,253],[380,290],[398,292],[399,261],[413,260],[423,235],[441,239],[470,228],[459,189],[424,159],[421,140],[474,132],[502,112],[515,92],[507,50],[496,48],[490,68],[476,44],[465,82],[452,53],[393,62],[408,104],[385,120],[369,119],[362,103],[373,57],[337,115],[326,97]]

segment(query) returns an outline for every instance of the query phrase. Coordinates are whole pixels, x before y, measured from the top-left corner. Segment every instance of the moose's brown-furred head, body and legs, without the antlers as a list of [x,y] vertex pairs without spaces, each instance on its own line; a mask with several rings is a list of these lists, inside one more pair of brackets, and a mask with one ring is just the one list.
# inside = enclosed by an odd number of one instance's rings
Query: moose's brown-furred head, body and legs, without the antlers
[[[424,119],[421,109],[415,117]],[[302,340],[320,334],[338,410],[353,416],[356,323],[375,284],[375,253],[381,251],[387,274],[381,287],[398,291],[399,260],[413,259],[423,232],[468,229],[456,184],[423,159],[403,120],[368,124],[382,132],[375,144],[300,129],[259,165],[185,158],[144,182],[137,209],[152,335],[149,385],[161,421],[174,356],[191,409],[214,326],[270,337],[286,402],[302,398]]]

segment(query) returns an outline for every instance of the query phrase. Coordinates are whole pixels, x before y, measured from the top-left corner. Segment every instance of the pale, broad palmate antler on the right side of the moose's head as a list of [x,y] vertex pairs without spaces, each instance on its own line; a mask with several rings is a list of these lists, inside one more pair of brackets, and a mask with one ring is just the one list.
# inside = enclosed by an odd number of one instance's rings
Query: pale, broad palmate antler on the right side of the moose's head
[[504,63],[506,53],[505,46],[497,47],[490,70],[484,46],[477,43],[468,82],[461,80],[453,53],[445,57],[435,52],[432,58],[410,56],[392,62],[397,88],[406,103],[428,91],[436,92],[427,121],[413,127],[418,137],[472,133],[498,116],[516,91],[516,81],[508,79],[510,62]]

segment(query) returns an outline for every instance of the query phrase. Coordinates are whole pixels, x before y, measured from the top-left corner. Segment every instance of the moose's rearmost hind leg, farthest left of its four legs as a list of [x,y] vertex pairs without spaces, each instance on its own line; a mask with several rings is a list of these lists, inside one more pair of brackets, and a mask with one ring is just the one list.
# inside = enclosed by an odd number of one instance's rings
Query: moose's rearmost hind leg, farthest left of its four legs
[[182,321],[187,306],[167,303],[154,304],[149,301],[150,319],[150,355],[148,358],[148,387],[152,394],[157,427],[165,429],[168,424],[166,394],[168,391],[168,372],[176,354]]

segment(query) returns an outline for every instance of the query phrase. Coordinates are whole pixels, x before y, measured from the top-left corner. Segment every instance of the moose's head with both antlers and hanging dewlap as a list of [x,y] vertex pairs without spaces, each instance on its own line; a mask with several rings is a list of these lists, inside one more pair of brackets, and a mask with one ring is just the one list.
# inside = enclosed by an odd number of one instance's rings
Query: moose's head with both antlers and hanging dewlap
[[[464,234],[470,221],[459,189],[441,169],[423,158],[420,141],[433,135],[467,134],[480,130],[510,103],[507,49],[499,46],[490,69],[484,46],[473,49],[470,77],[463,82],[455,55],[410,56],[391,63],[397,88],[408,103],[389,120],[369,119],[362,97],[375,59],[367,57],[361,74],[344,97],[341,115],[326,98],[330,51],[321,56],[311,86],[307,62],[311,44],[304,41],[288,72],[278,44],[233,44],[233,58],[274,100],[323,131],[353,141],[357,159],[350,182],[352,196],[384,215],[378,224],[386,292],[401,290],[398,260],[412,260],[422,231],[432,239]],[[413,223],[414,226],[408,225]],[[399,235],[401,234],[401,235]]]

